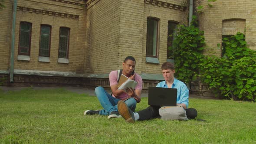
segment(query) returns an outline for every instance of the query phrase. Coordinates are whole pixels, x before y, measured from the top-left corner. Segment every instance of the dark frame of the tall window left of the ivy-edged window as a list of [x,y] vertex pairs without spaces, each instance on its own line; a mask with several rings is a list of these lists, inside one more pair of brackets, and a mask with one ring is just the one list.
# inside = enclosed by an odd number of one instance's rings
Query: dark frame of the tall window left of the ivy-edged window
[[[148,53],[148,20],[155,20],[157,21],[157,33],[156,33],[156,56],[151,56],[151,55],[147,55]],[[148,16],[147,17],[147,34],[146,34],[146,57],[152,57],[152,58],[158,58],[158,49],[159,49],[159,21],[160,19],[156,18],[156,17],[151,17]]]

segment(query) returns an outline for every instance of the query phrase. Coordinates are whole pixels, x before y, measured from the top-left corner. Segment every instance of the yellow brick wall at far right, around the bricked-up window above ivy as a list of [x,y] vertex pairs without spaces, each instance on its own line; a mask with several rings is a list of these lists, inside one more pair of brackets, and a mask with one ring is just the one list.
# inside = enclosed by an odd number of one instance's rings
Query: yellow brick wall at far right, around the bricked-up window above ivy
[[[256,50],[256,1],[255,0],[217,0],[212,8],[207,7],[207,0],[202,0],[200,5],[205,6],[199,16],[200,29],[204,31],[207,49],[206,55],[221,55],[217,43],[221,44],[223,20],[245,19],[246,42],[250,49]],[[225,24],[224,24],[225,25]],[[238,23],[234,26],[240,27]]]

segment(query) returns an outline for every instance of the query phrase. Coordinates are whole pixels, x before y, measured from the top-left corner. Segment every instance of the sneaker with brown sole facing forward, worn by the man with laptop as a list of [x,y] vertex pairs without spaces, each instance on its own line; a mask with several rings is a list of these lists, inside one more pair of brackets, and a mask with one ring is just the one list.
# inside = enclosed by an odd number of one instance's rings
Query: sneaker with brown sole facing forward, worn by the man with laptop
[[125,119],[126,122],[135,122],[134,113],[130,108],[128,108],[125,101],[118,101],[117,108],[119,114]]

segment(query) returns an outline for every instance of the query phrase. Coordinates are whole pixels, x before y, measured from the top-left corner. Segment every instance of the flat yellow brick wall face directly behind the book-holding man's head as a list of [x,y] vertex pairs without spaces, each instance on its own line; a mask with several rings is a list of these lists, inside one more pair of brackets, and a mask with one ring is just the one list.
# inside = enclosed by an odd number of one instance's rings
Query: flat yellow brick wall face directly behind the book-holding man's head
[[[135,71],[141,73],[142,62],[142,39],[143,39],[143,14],[144,0],[121,0],[120,20],[120,59],[124,61],[126,56],[136,59]],[[121,68],[121,67],[120,67]]]

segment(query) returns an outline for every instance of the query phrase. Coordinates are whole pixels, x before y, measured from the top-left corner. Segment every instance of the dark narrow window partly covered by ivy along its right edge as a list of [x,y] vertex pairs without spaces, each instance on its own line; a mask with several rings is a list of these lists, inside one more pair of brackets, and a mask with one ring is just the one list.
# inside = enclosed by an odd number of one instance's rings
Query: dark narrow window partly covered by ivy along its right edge
[[175,37],[177,36],[177,22],[168,21],[168,32],[167,32],[167,59],[174,59],[173,50],[170,49],[173,46]]

